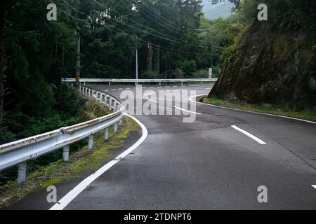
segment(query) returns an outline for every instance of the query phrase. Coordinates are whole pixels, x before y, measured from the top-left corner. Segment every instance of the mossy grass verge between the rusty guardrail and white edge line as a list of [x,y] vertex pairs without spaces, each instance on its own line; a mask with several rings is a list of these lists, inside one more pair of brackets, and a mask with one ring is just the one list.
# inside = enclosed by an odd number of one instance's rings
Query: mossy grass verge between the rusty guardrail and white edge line
[[[16,181],[8,181],[0,187],[0,209],[8,207],[35,190],[79,178],[81,172],[98,169],[103,165],[105,159],[112,157],[111,150],[119,148],[131,131],[139,129],[139,125],[133,119],[124,117],[123,125],[119,127],[117,134],[114,134],[113,128],[110,128],[108,141],[104,140],[103,132],[95,134],[93,151],[88,151],[88,146],[84,146],[70,155],[70,162],[58,160],[27,174],[25,183],[18,184]],[[84,143],[87,144],[86,141]]]

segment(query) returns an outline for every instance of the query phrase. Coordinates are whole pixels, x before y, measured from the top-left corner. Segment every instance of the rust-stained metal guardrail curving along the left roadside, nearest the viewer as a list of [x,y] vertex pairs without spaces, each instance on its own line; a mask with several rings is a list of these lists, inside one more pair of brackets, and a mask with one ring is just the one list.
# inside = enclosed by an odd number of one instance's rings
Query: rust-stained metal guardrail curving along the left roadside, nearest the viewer
[[22,183],[26,180],[27,161],[63,148],[62,157],[67,162],[71,144],[88,138],[88,150],[92,150],[93,134],[105,130],[106,141],[109,139],[109,127],[114,125],[114,133],[117,132],[117,125],[122,124],[122,117],[124,116],[124,107],[121,103],[109,94],[91,90],[88,87],[80,86],[79,91],[84,96],[105,104],[114,113],[71,127],[62,127],[59,130],[1,145],[0,171],[18,166],[18,183]]

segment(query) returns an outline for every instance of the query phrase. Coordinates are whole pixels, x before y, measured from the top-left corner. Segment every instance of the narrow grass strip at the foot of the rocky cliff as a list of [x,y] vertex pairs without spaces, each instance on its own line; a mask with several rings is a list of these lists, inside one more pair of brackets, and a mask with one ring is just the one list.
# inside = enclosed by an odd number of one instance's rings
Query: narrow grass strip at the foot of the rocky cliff
[[275,106],[275,105],[268,105],[268,104],[263,104],[263,105],[237,104],[237,103],[226,102],[220,99],[207,98],[207,97],[200,97],[199,99],[197,99],[197,101],[203,102],[205,104],[213,104],[216,106],[228,107],[231,109],[239,109],[239,110],[259,112],[259,113],[268,113],[268,114],[287,116],[291,118],[299,118],[299,119],[306,119],[306,120],[316,120],[315,112],[291,111],[288,104],[284,104],[282,106]]

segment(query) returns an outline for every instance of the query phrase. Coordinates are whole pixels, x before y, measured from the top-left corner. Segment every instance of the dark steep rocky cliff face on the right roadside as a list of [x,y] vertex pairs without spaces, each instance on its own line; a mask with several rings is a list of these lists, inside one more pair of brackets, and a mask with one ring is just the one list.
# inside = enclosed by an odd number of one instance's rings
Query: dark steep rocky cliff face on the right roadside
[[242,35],[209,97],[316,111],[315,44],[301,31],[254,24]]

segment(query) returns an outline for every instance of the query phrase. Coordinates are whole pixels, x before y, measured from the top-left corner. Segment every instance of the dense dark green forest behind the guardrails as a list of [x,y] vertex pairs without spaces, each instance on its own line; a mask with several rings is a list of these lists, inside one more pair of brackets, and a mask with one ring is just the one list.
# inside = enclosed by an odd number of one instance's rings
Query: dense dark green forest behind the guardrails
[[[57,21],[47,6],[57,5]],[[202,1],[1,1],[0,144],[77,122],[80,99],[61,78],[207,77],[242,29],[206,20]],[[80,66],[77,43],[80,38]]]

